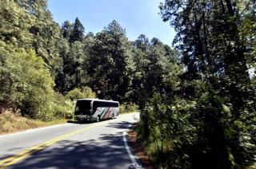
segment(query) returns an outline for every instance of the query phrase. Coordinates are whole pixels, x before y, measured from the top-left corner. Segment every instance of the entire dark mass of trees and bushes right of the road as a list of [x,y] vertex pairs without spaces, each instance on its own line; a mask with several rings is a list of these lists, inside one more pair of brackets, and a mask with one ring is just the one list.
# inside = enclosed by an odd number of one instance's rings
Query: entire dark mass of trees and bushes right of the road
[[162,167],[255,167],[255,7],[250,0],[160,5],[183,67],[168,78],[170,91],[146,102],[138,131]]

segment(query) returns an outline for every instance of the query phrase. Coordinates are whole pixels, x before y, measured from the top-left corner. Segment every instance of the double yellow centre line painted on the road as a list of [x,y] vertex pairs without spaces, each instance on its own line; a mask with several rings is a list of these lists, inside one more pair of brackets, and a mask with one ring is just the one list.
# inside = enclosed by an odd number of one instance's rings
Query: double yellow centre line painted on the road
[[[118,120],[122,120],[122,119],[118,118]],[[95,127],[97,127],[99,125],[102,125],[102,124],[106,124],[106,123],[96,124],[96,125],[93,125],[93,126],[90,126],[90,127],[75,130],[73,132],[66,133],[62,136],[55,137],[52,140],[49,140],[49,141],[46,141],[44,143],[38,144],[37,146],[30,147],[29,149],[21,151],[16,155],[13,155],[13,156],[10,156],[9,158],[1,160],[0,161],[0,168],[5,168],[5,167],[8,167],[10,165],[13,165],[14,163],[18,163],[18,161],[20,161],[22,159],[25,159],[27,156],[32,155],[34,152],[37,152],[37,151],[40,151],[40,150],[42,150],[46,147],[49,147],[50,145],[58,142],[59,140],[63,140],[65,138],[69,137],[69,136],[74,136],[74,135],[78,134],[79,132],[84,132],[84,131],[86,131],[90,128],[95,128]]]

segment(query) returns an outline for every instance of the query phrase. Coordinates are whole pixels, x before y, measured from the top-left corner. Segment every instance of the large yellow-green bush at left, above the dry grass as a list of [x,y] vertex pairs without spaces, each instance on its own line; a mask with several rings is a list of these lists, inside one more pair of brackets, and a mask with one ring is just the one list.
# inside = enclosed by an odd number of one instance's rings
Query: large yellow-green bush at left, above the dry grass
[[71,101],[54,92],[50,72],[33,50],[26,52],[2,46],[0,55],[0,104],[38,120],[63,118],[64,112],[71,111]]

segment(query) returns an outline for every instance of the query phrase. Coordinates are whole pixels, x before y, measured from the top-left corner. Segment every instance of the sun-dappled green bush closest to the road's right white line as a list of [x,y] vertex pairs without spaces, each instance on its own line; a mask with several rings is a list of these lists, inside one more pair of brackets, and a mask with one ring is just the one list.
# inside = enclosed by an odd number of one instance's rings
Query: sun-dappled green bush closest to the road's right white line
[[154,93],[141,112],[137,131],[148,155],[159,167],[187,168],[190,166],[187,150],[197,138],[192,120],[196,103],[174,100],[173,104],[166,104],[164,100]]

